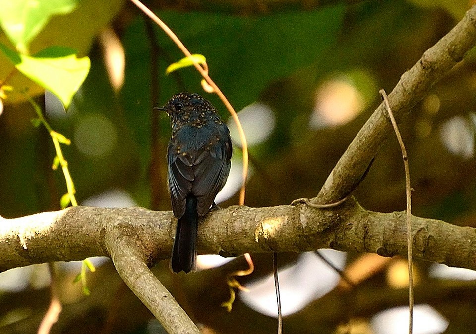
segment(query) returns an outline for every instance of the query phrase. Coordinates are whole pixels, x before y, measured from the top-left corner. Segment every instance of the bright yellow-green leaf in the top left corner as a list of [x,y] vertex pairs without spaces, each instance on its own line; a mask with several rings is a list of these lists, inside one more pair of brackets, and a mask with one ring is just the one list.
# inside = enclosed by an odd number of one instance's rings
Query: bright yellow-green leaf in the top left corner
[[0,0],[0,25],[17,50],[27,53],[28,44],[51,16],[67,14],[76,0]]

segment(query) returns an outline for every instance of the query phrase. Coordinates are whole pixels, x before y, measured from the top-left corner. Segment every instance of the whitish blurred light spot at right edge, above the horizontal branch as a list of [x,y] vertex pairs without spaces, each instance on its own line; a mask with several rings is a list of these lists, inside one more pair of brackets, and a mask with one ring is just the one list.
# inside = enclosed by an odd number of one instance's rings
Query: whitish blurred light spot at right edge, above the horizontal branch
[[440,128],[440,139],[446,149],[465,159],[473,157],[475,150],[474,124],[461,116],[454,116]]

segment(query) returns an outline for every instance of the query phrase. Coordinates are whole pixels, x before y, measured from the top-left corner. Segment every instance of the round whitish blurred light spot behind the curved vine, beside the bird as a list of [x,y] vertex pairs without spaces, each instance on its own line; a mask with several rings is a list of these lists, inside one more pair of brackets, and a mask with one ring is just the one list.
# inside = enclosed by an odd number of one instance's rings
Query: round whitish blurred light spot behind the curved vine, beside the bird
[[[273,132],[276,120],[273,110],[264,103],[253,103],[238,112],[241,127],[246,135],[248,146],[253,146],[265,141]],[[228,121],[230,136],[233,143],[241,147],[238,128],[230,118]]]

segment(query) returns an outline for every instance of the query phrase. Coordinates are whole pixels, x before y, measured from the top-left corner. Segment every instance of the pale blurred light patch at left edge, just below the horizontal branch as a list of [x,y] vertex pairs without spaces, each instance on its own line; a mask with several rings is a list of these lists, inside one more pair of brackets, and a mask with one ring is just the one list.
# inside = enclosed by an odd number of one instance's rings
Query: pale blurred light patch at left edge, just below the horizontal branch
[[48,265],[35,264],[0,273],[0,291],[20,292],[31,286],[42,289],[50,285]]

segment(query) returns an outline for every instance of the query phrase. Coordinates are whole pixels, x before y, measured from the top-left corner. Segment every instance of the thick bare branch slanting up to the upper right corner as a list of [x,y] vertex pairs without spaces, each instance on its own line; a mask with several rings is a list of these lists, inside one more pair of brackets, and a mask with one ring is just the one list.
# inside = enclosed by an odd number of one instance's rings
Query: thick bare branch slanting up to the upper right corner
[[[476,44],[476,5],[421,59],[405,72],[388,95],[398,121]],[[317,202],[335,202],[352,192],[389,134],[392,124],[382,102],[347,148],[322,187]]]

